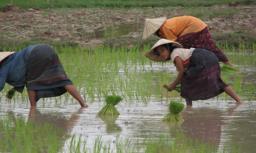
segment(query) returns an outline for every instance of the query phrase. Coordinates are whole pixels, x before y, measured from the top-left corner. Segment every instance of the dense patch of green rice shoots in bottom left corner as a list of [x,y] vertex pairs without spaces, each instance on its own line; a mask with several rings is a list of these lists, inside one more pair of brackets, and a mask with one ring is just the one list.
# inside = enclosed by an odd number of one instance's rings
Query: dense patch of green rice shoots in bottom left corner
[[20,118],[1,119],[0,152],[59,152],[63,145],[62,131],[53,127]]

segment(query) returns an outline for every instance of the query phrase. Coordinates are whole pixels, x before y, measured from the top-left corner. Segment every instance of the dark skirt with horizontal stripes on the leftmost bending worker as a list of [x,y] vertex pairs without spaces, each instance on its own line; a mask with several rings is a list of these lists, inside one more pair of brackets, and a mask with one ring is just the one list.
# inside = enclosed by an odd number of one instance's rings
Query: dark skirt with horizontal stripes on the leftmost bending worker
[[60,96],[67,92],[63,86],[73,84],[67,77],[57,53],[45,44],[36,46],[31,51],[26,82],[27,90],[36,91],[36,101],[40,98]]

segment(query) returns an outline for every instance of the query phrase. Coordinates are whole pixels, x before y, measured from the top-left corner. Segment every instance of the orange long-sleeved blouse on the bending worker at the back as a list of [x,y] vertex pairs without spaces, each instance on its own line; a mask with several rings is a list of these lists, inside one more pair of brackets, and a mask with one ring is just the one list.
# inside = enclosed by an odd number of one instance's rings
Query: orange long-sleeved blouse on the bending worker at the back
[[166,19],[165,23],[159,28],[159,35],[161,38],[176,41],[182,35],[201,31],[205,27],[207,27],[207,24],[193,16],[174,17]]

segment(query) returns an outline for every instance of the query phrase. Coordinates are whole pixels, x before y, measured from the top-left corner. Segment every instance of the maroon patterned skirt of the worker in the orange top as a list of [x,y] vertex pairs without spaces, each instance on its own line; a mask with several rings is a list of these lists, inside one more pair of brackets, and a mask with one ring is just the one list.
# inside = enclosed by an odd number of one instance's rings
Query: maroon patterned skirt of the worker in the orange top
[[207,27],[199,32],[191,32],[180,36],[176,40],[183,48],[202,48],[212,51],[220,62],[228,62],[227,56],[214,43]]

